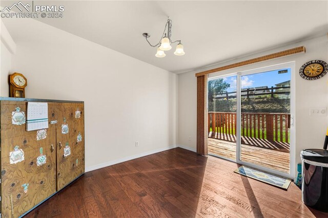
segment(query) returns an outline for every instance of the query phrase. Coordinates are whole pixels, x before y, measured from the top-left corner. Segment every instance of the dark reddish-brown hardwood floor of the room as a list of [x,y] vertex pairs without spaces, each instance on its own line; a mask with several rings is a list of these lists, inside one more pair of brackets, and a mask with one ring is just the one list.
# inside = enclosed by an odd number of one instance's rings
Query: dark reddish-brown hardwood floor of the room
[[25,217],[328,217],[239,165],[176,148],[88,172]]

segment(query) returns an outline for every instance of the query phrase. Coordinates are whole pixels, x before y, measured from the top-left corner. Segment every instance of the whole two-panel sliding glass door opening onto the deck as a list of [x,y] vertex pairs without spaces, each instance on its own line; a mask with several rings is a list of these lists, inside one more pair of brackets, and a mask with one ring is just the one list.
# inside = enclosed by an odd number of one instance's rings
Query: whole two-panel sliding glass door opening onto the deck
[[286,63],[209,78],[209,154],[292,178],[293,71]]

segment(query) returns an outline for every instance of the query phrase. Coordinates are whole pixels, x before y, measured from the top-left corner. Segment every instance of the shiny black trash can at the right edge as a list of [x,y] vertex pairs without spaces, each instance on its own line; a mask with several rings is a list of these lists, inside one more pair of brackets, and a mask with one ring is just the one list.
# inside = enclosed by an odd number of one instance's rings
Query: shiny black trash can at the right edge
[[328,151],[306,149],[302,158],[302,200],[305,205],[328,212]]

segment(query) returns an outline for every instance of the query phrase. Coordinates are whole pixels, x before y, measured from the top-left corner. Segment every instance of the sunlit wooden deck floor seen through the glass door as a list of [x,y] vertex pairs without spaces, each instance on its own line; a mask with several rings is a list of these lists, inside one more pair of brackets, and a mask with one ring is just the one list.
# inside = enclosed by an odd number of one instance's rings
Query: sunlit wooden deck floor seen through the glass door
[[[210,154],[236,160],[235,142],[209,138],[208,146]],[[241,160],[290,173],[290,155],[285,150],[273,150],[254,146],[253,144],[241,144]]]

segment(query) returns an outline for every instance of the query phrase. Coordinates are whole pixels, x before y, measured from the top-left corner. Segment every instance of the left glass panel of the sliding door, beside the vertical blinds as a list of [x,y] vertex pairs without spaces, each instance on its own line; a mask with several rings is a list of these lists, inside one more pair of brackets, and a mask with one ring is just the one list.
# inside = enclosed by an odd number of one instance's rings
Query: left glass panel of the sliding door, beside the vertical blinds
[[216,77],[208,81],[209,153],[236,160],[237,76]]

